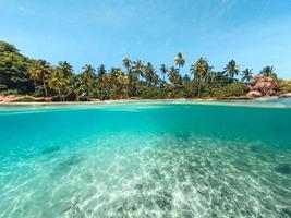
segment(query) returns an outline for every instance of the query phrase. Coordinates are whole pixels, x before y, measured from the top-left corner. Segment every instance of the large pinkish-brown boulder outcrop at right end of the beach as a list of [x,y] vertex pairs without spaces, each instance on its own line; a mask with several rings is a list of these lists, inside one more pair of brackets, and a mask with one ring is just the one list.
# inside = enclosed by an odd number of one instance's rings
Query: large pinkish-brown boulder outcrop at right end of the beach
[[250,97],[274,96],[278,90],[278,83],[272,77],[256,76],[253,83],[248,86]]

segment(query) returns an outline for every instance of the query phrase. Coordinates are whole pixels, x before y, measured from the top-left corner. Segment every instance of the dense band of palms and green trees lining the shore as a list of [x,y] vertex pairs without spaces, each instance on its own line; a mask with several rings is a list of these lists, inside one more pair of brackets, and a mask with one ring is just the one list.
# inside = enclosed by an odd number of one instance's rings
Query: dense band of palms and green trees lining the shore
[[[173,65],[124,58],[122,68],[95,69],[84,65],[75,73],[66,61],[51,65],[45,60],[24,57],[15,46],[0,41],[0,93],[31,95],[53,100],[123,99],[123,98],[195,98],[244,96],[252,83],[252,69],[240,69],[234,60],[221,71],[215,71],[206,58],[194,62],[189,73],[181,73],[186,60],[179,52]],[[158,69],[158,70],[157,70]],[[184,70],[183,70],[184,72]],[[277,78],[272,66],[265,66],[258,75]],[[290,83],[282,84],[281,93],[290,92]],[[26,98],[31,100],[31,98]]]

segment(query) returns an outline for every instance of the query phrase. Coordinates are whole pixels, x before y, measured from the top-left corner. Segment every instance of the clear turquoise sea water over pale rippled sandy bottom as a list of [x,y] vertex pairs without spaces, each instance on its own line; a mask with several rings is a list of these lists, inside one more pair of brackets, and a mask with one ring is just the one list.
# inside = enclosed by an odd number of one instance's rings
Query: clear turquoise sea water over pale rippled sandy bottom
[[0,106],[0,217],[290,217],[291,102]]

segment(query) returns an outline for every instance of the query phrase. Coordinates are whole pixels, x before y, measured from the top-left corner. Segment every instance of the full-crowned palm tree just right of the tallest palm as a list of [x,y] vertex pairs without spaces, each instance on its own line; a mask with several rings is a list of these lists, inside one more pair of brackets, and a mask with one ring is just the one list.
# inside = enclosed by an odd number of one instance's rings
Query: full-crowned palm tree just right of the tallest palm
[[209,73],[210,66],[208,64],[208,61],[201,57],[195,64],[191,65],[190,71],[191,74],[194,75],[194,80],[198,82],[198,97],[201,97],[201,89],[202,89],[202,83],[205,78],[206,74]]

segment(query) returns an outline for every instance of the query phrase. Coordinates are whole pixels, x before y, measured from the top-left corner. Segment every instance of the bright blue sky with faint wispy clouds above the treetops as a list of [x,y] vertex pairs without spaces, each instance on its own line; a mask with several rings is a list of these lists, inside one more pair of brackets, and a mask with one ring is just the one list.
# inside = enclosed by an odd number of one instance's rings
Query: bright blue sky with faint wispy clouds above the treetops
[[205,57],[291,78],[291,0],[0,0],[0,40],[75,72],[125,57],[158,69],[182,52],[182,74]]

